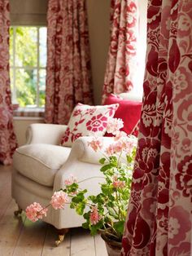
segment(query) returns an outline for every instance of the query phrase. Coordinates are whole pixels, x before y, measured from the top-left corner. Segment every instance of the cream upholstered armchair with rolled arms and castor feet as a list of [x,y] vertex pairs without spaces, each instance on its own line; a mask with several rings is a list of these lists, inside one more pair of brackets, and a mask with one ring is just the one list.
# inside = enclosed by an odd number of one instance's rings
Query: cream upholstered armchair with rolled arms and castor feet
[[[64,180],[70,174],[82,181],[81,188],[87,188],[90,194],[99,192],[98,183],[103,179],[98,163],[101,154],[87,147],[90,137],[76,139],[72,148],[59,146],[66,128],[48,124],[28,127],[27,143],[17,148],[14,154],[12,197],[20,207],[15,214],[20,214],[34,201],[48,205],[53,192],[63,188]],[[111,143],[111,138],[103,139],[106,144]],[[84,219],[66,205],[64,210],[50,207],[43,221],[63,230],[80,227]],[[63,236],[59,239],[62,241]]]

